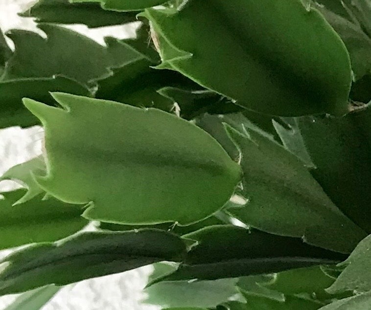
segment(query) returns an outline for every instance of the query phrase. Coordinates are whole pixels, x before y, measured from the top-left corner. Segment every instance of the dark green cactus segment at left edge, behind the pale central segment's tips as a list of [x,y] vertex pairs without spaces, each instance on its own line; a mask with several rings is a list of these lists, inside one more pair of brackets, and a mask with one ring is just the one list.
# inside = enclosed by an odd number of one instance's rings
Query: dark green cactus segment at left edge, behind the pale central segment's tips
[[55,101],[50,96],[50,91],[92,96],[91,91],[85,86],[62,76],[23,78],[0,82],[0,128],[39,125],[40,121],[24,108],[22,98],[31,98],[54,105]]

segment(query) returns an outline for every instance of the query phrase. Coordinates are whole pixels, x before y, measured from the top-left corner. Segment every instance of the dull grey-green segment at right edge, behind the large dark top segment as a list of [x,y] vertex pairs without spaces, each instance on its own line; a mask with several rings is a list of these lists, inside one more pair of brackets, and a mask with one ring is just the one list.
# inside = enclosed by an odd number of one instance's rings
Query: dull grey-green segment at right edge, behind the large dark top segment
[[320,8],[321,13],[339,34],[349,51],[355,80],[371,73],[371,38],[363,32],[360,25]]

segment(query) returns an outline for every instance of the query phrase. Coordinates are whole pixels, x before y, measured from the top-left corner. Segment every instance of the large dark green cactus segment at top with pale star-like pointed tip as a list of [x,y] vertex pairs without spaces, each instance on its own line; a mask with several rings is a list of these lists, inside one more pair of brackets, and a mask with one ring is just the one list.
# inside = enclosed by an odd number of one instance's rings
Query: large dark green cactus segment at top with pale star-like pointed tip
[[238,105],[283,116],[348,111],[348,52],[323,16],[299,0],[192,0],[180,11],[142,16],[152,22],[161,68]]

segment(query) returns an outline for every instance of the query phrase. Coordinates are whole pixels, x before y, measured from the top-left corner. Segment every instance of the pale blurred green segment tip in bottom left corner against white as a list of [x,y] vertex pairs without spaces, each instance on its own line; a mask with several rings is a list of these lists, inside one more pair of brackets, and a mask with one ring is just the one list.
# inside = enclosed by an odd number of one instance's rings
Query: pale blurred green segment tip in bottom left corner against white
[[25,292],[4,310],[40,310],[60,289],[51,285]]

